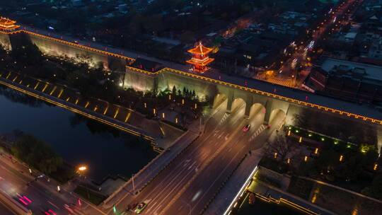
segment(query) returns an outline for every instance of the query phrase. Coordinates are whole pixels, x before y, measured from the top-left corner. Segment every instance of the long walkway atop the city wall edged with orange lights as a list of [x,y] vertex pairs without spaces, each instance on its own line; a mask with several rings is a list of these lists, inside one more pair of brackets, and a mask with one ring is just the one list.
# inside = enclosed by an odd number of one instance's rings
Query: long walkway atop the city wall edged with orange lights
[[[136,52],[129,52],[126,50],[121,50],[113,47],[105,47],[105,45],[96,42],[86,42],[82,40],[76,40],[69,36],[57,35],[46,30],[35,30],[26,26],[21,27],[23,30],[18,30],[13,33],[28,33],[41,37],[47,37],[48,39],[54,40],[55,42],[62,42],[66,45],[72,45],[74,47],[80,47],[93,52],[100,52],[102,54],[107,54],[113,57],[120,57],[127,59],[129,61],[134,61],[138,57],[148,60],[154,60],[161,64],[167,65],[169,68],[162,69],[155,74],[160,74],[164,71],[173,72],[176,74],[181,74],[184,76],[191,76],[196,79],[202,79],[211,83],[219,83],[221,85],[238,88],[243,91],[250,91],[252,93],[257,93],[261,95],[268,96],[270,98],[276,98],[279,100],[285,100],[289,103],[296,103],[299,105],[304,105],[310,108],[316,108],[318,110],[324,110],[327,112],[333,112],[347,117],[352,117],[355,119],[364,120],[367,122],[372,122],[376,124],[382,124],[382,112],[378,111],[376,108],[369,106],[368,104],[357,104],[349,103],[343,100],[337,100],[335,98],[326,97],[323,95],[317,95],[310,93],[308,91],[301,91],[294,88],[287,88],[284,86],[275,85],[265,81],[259,81],[255,79],[243,79],[236,76],[228,76],[226,74],[221,74],[218,71],[212,70],[204,74],[195,74],[195,72],[189,71],[188,66],[182,64],[176,64],[172,62],[166,62],[161,59],[156,59],[155,57],[149,57],[145,54],[138,54]],[[0,32],[9,34],[7,32]],[[131,67],[130,67],[131,68]],[[146,71],[140,69],[134,69],[135,71],[140,71],[144,74],[148,74]],[[149,72],[149,74],[153,74]]]

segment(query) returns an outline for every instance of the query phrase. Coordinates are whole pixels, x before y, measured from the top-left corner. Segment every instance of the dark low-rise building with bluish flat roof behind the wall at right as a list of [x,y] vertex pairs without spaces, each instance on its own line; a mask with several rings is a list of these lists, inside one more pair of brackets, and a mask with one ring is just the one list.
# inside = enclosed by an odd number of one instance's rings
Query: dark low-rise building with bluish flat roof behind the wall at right
[[382,102],[382,66],[325,58],[305,85],[322,93],[359,103]]

